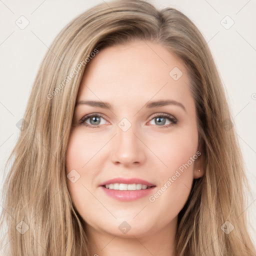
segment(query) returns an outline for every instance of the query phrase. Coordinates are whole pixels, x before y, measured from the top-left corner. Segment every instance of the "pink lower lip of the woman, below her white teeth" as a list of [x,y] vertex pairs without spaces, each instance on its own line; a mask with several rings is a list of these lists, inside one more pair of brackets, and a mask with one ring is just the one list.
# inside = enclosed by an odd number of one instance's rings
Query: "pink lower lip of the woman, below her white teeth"
[[152,190],[155,188],[155,186],[152,186],[147,189],[140,189],[140,190],[117,190],[117,189],[108,189],[108,188],[105,188],[104,186],[101,186],[101,188],[108,196],[116,200],[132,201],[152,193]]

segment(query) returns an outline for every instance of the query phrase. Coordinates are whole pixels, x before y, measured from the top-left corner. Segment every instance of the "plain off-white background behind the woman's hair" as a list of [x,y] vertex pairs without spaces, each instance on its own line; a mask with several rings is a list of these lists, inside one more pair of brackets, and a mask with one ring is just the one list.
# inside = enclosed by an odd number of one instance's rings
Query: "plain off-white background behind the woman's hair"
[[[0,188],[3,164],[13,148],[39,64],[62,27],[103,0],[0,0]],[[256,244],[256,22],[255,0],[150,0],[156,7],[174,7],[204,35],[218,67],[234,116],[246,175],[252,188],[243,214],[249,216]],[[20,29],[23,15],[29,24]],[[226,16],[229,17],[226,17]],[[17,20],[17,21],[16,21]],[[222,21],[221,21],[222,20]],[[234,24],[228,28],[232,22]],[[23,19],[22,24],[25,24]],[[20,24],[21,25],[21,24]],[[228,28],[228,29],[227,29]],[[0,206],[0,211],[2,207]]]

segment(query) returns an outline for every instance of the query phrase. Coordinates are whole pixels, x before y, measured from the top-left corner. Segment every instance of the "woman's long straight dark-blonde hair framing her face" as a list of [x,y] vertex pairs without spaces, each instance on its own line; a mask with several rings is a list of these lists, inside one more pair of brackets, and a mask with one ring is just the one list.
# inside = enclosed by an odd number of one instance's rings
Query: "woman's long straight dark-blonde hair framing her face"
[[[164,45],[183,61],[196,106],[205,173],[194,180],[178,214],[176,254],[255,255],[243,213],[243,161],[206,41],[180,11],[157,10],[142,0],[94,6],[63,28],[46,53],[26,106],[25,125],[8,159],[12,163],[1,215],[1,225],[8,228],[8,243],[1,244],[7,255],[89,255],[65,172],[77,91],[92,52],[133,39]],[[223,223],[230,226],[226,221],[233,226],[228,234],[222,228]]]

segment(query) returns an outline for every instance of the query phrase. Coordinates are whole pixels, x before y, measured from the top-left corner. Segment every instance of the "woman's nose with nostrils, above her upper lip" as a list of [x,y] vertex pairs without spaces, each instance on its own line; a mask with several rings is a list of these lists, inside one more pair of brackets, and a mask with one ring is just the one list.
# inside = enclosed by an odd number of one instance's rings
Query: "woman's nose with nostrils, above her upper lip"
[[138,132],[132,125],[123,131],[117,127],[117,134],[113,138],[111,161],[116,165],[138,166],[145,159],[145,145],[141,142]]

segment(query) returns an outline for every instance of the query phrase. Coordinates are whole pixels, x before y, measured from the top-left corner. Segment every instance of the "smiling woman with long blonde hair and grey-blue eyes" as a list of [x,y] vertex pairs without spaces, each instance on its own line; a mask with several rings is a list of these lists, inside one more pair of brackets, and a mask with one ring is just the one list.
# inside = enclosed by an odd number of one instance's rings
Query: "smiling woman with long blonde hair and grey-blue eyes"
[[241,154],[195,25],[111,1],[50,49],[10,157],[7,255],[255,255]]

